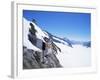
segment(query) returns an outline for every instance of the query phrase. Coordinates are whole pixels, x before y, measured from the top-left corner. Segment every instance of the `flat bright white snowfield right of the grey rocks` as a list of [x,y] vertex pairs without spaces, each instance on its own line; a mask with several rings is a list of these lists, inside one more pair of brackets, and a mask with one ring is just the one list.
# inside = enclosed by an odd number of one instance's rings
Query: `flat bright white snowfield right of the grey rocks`
[[91,65],[91,48],[74,45],[73,48],[56,43],[62,50],[57,54],[63,67],[83,67]]

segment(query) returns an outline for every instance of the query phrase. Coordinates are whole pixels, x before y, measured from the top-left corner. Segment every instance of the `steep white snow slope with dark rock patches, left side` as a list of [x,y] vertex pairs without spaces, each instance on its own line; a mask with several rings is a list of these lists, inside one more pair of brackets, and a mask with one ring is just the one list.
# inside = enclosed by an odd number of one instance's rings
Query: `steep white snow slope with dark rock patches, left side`
[[[25,18],[23,18],[23,23],[24,23],[24,26],[23,26],[24,46],[26,46],[28,49],[33,49],[33,50],[35,49],[36,51],[41,51],[39,47],[37,48],[36,45],[32,44],[31,38],[29,39],[29,37],[30,36],[34,37],[35,35],[34,39],[36,38],[36,40],[38,41],[38,43],[36,43],[38,44],[38,46],[41,44],[41,41],[45,42],[44,37],[49,38],[49,39],[52,39],[52,38],[47,32],[43,31],[35,22],[28,21]],[[34,27],[34,30],[35,30],[33,32],[30,31],[32,30],[32,27]],[[57,46],[56,46],[56,49],[60,50]]]

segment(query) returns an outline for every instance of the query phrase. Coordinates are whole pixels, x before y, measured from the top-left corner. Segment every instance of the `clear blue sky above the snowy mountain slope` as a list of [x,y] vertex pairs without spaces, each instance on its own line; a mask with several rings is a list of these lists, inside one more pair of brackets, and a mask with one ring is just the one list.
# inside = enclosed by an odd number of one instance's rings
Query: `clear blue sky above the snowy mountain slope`
[[35,19],[40,28],[59,37],[77,41],[91,39],[90,13],[23,10],[23,17],[29,21]]

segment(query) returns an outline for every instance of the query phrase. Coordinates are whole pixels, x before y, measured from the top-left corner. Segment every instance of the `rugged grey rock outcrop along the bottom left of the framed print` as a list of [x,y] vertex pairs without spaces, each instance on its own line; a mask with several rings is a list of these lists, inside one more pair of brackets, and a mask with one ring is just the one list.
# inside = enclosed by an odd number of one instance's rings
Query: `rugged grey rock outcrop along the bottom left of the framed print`
[[44,56],[44,62],[41,62],[41,52],[37,52],[27,47],[23,47],[23,69],[39,68],[59,68],[62,67],[55,54]]

